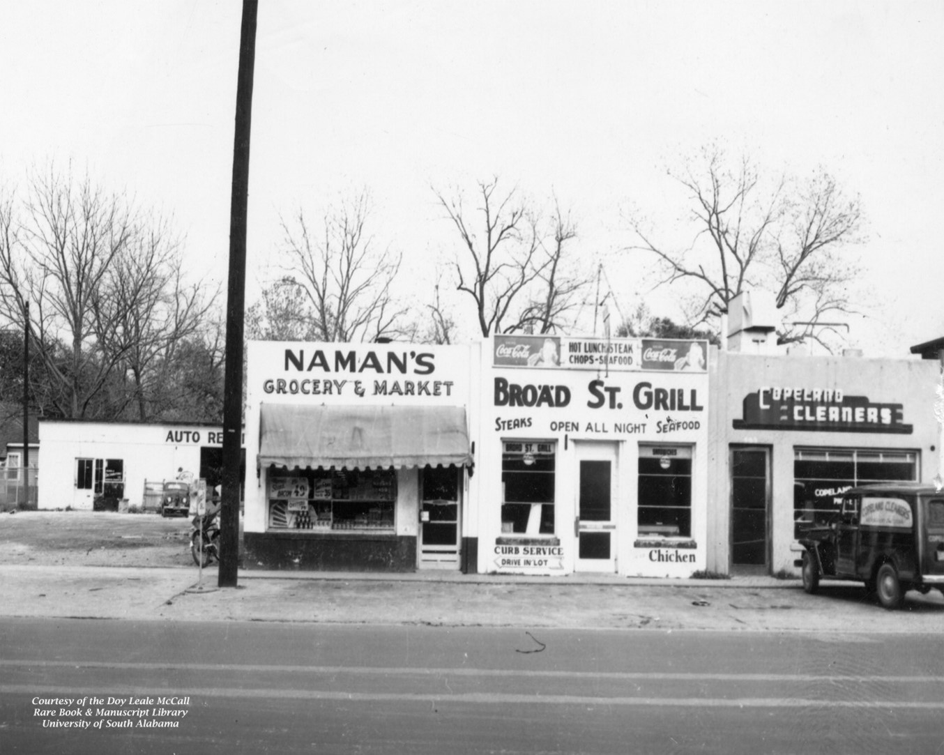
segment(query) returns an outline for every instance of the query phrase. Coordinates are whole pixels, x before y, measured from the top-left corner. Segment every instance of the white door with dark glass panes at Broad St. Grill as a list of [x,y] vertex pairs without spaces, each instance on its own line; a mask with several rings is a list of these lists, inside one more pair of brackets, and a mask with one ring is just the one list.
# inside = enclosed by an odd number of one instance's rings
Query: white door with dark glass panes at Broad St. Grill
[[616,445],[574,444],[577,456],[576,570],[616,570]]

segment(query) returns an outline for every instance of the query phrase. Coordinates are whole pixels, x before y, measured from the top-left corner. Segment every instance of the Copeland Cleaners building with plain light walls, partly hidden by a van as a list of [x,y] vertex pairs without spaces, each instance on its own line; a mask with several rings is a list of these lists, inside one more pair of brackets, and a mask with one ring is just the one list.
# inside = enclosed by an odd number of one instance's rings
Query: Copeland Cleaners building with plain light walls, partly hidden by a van
[[936,474],[935,361],[713,350],[708,568],[798,573],[854,485]]

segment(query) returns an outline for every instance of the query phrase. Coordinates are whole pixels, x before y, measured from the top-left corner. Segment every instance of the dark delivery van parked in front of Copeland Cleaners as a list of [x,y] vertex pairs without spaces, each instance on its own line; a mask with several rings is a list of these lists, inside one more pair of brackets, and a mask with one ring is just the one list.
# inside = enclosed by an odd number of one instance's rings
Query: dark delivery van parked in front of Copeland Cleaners
[[824,525],[801,531],[803,589],[819,578],[861,581],[886,609],[902,606],[908,590],[944,593],[944,491],[895,482],[852,488]]

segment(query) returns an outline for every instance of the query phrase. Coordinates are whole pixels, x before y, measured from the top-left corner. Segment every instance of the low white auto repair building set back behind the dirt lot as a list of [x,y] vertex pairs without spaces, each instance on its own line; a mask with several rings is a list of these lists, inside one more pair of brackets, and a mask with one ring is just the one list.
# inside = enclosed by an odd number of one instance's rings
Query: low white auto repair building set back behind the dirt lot
[[177,478],[180,470],[220,482],[223,429],[202,424],[143,424],[40,419],[42,470],[40,509],[157,511],[148,504],[145,483]]

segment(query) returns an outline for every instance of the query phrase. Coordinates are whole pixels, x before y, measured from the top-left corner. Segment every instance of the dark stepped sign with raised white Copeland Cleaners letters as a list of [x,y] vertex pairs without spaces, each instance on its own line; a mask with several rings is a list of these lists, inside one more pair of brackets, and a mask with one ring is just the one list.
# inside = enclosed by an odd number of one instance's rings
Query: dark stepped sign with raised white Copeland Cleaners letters
[[744,397],[734,429],[895,432],[910,434],[902,404],[880,404],[834,389],[765,387]]

